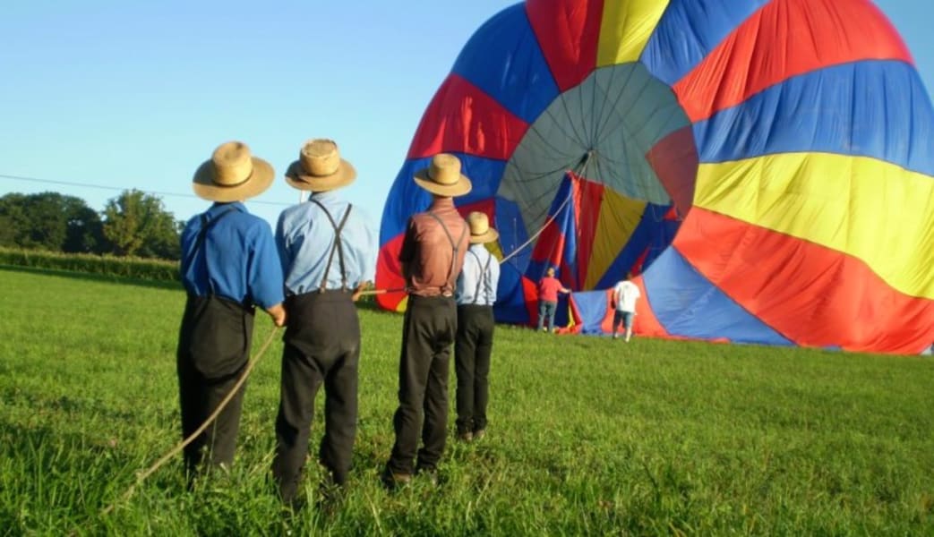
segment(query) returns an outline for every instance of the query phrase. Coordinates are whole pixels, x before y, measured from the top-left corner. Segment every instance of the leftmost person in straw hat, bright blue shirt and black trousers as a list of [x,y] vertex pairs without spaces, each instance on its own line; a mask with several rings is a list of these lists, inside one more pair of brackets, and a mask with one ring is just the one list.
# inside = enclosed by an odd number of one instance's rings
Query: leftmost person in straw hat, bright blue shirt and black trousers
[[[194,174],[194,192],[214,205],[189,220],[181,235],[180,271],[188,291],[177,348],[184,438],[214,413],[247,366],[254,305],[276,326],[285,324],[272,230],[242,203],[269,188],[274,175],[241,142],[219,146]],[[205,447],[210,464],[233,463],[242,404],[240,389],[212,426],[185,447],[190,480]]]

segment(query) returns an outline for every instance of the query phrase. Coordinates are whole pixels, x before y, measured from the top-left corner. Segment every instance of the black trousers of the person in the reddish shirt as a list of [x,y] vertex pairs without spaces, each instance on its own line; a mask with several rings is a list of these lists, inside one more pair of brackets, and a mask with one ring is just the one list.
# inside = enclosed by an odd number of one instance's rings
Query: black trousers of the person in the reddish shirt
[[[416,455],[419,470],[433,470],[445,451],[447,375],[457,324],[453,297],[409,295],[399,359],[399,408],[392,419],[396,442],[387,463],[390,472],[413,473]],[[417,449],[419,430],[421,449]]]

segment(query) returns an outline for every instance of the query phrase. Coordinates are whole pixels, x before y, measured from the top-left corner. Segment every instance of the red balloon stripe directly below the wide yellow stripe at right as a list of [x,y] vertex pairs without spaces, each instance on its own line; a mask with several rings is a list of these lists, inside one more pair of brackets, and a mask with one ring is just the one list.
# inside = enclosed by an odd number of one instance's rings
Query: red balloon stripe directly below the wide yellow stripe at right
[[674,245],[719,289],[801,346],[913,354],[934,341],[934,302],[892,289],[845,253],[699,207]]

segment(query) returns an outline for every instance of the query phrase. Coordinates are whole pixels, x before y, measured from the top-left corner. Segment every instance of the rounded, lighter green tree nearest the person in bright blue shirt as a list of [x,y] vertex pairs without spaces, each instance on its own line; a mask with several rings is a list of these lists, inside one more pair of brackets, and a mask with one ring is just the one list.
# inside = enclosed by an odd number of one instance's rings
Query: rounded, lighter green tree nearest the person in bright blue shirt
[[104,235],[117,255],[177,260],[178,226],[162,199],[123,191],[104,208]]

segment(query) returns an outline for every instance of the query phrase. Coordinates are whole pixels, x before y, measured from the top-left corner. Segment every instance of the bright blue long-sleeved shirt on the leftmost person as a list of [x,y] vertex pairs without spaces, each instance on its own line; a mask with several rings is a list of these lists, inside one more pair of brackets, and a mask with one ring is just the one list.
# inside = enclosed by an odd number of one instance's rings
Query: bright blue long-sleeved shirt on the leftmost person
[[[209,229],[204,243],[194,251],[203,216]],[[211,205],[204,215],[188,221],[181,233],[180,272],[185,290],[198,296],[213,293],[262,308],[283,299],[282,266],[273,230],[241,203]]]

